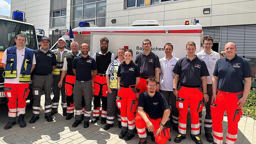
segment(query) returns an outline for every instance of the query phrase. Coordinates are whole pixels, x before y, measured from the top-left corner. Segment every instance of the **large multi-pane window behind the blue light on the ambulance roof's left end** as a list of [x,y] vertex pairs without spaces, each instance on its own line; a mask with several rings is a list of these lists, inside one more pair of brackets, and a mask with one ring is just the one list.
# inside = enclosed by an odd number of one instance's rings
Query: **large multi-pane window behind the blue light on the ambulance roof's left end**
[[106,26],[106,0],[74,0],[73,28],[80,21]]

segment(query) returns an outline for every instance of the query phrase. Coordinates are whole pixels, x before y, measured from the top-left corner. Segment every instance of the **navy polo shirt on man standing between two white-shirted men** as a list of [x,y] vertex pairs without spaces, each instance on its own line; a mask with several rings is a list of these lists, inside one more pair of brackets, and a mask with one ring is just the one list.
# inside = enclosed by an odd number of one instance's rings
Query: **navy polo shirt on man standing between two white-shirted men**
[[187,56],[179,59],[172,72],[179,75],[180,84],[187,86],[202,85],[201,77],[209,76],[205,62],[197,56],[192,61]]

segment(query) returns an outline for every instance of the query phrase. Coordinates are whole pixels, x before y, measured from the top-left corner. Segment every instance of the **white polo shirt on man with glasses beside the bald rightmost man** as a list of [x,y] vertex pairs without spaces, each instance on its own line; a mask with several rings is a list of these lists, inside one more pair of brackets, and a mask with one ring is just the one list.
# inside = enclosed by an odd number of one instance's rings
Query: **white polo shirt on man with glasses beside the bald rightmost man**
[[218,59],[220,59],[219,53],[213,51],[212,49],[211,51],[212,53],[210,55],[205,53],[204,49],[196,54],[198,58],[202,59],[205,62],[207,69],[209,71],[210,75],[206,77],[207,84],[212,84],[212,77],[213,77],[212,73],[215,67],[215,63]]

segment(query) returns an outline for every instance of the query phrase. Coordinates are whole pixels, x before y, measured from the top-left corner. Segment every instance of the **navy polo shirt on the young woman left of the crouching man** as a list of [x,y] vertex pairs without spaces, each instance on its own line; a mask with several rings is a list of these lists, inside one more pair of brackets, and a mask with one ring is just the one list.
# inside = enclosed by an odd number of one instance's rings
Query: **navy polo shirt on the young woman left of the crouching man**
[[135,85],[136,77],[140,77],[140,68],[132,64],[120,63],[117,70],[117,77],[121,77],[120,83],[125,86]]

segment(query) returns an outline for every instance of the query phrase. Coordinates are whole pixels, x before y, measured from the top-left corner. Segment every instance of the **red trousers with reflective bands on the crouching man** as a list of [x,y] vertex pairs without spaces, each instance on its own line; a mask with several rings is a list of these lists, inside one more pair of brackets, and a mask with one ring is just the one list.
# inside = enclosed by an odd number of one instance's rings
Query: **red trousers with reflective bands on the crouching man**
[[[151,119],[148,116],[148,114],[146,114],[146,115],[147,115],[149,121],[153,124],[153,127],[155,129],[154,135],[155,135],[156,143],[158,143],[158,144],[166,144],[167,143],[167,139],[163,137],[163,130],[161,131],[161,135],[160,134],[156,135],[156,130],[159,129],[159,127],[160,127],[159,123],[162,121],[162,119],[161,118]],[[135,125],[136,125],[137,131],[138,131],[139,138],[146,139],[147,138],[146,129],[148,129],[148,127],[147,127],[146,122],[142,119],[142,117],[140,116],[139,113],[136,113]]]

